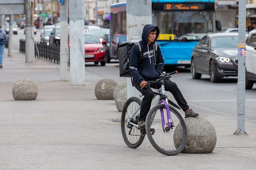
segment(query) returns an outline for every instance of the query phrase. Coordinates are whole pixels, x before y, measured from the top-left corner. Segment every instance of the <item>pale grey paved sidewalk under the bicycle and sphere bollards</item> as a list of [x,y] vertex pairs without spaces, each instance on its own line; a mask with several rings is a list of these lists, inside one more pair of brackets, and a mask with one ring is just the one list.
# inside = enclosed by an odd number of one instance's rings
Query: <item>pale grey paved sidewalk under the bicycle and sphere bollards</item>
[[[85,86],[59,81],[58,63],[4,50],[0,69],[0,169],[255,169],[256,123],[246,121],[248,136],[233,135],[237,117],[193,105],[214,125],[217,144],[211,154],[167,157],[147,138],[128,148],[120,128],[121,113],[114,100],[97,100],[101,76],[86,73]],[[38,86],[33,101],[15,101],[12,86],[20,78]]]

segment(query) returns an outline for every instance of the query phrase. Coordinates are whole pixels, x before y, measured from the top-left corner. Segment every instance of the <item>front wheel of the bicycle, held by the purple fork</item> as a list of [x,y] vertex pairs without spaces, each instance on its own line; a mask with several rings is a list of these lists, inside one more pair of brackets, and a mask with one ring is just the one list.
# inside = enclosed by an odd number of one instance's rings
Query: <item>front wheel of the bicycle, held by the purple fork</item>
[[[162,127],[161,109],[164,115],[164,128]],[[187,127],[176,109],[169,106],[169,110],[172,127],[168,128],[165,105],[159,104],[153,107],[147,115],[146,133],[148,140],[158,152],[171,156],[177,155],[184,149],[187,143]]]

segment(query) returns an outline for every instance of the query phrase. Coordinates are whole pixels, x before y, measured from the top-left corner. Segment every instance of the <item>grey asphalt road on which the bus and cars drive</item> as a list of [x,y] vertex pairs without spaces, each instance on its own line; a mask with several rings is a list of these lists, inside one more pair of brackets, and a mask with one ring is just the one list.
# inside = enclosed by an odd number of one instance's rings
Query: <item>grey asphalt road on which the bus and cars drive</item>
[[[19,49],[19,39],[24,38],[24,29],[18,28],[18,35],[13,35],[13,48]],[[41,29],[37,30],[35,41],[40,40]],[[127,78],[119,77],[119,65],[116,60],[106,63],[106,66],[95,65],[94,62],[86,62],[86,75],[91,79],[99,80],[99,78],[109,78],[119,82],[127,81]],[[169,73],[175,70],[178,74],[173,75],[172,81],[176,82],[182,94],[193,109],[204,108],[206,112],[222,112],[225,115],[237,114],[237,77],[223,78],[222,82],[211,83],[209,76],[202,75],[200,80],[193,80],[189,68],[165,66],[164,70]],[[33,74],[33,73],[32,73]],[[35,76],[36,77],[36,76]],[[130,81],[128,79],[128,81]],[[168,93],[167,93],[168,94]],[[172,94],[168,95],[173,101]],[[249,121],[256,122],[256,83],[251,90],[245,93],[245,117]],[[196,100],[195,100],[196,98]]]

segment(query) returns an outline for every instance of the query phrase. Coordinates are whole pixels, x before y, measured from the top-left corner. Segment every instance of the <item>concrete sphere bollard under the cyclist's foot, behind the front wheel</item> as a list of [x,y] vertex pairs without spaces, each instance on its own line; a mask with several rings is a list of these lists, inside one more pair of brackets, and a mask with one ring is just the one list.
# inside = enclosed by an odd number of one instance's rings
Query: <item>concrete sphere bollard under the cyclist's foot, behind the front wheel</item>
[[[209,154],[211,153],[217,142],[217,135],[213,125],[206,119],[202,117],[187,117],[184,119],[187,131],[188,131],[188,140],[187,144],[182,151],[182,153],[189,154]],[[179,123],[174,130],[173,138],[177,139],[177,144],[181,143],[182,139],[178,139],[178,129],[181,127]],[[176,131],[177,130],[177,131]]]

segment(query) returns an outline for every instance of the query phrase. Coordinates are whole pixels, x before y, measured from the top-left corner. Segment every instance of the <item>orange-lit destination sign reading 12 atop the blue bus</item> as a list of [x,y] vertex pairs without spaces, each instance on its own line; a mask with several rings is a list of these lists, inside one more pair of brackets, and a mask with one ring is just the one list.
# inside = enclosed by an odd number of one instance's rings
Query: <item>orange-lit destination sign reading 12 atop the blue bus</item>
[[163,10],[203,10],[204,4],[199,3],[165,3]]

